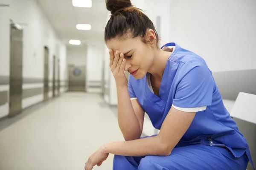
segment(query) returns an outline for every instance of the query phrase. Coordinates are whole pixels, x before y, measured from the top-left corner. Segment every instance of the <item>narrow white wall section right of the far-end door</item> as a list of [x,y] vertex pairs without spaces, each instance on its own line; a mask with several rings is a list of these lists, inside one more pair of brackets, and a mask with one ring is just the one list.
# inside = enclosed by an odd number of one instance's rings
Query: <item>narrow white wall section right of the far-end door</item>
[[103,42],[99,45],[88,45],[87,50],[87,92],[100,93],[102,88],[90,88],[90,86],[101,86],[102,85],[102,68],[104,59],[104,44]]

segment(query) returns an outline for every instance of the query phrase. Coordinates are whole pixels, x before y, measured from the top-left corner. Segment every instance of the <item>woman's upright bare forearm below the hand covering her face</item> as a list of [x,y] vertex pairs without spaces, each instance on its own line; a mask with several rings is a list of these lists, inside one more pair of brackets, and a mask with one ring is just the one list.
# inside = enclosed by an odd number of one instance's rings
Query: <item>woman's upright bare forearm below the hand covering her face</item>
[[118,100],[118,123],[125,140],[139,139],[140,123],[134,113],[127,86],[116,87]]

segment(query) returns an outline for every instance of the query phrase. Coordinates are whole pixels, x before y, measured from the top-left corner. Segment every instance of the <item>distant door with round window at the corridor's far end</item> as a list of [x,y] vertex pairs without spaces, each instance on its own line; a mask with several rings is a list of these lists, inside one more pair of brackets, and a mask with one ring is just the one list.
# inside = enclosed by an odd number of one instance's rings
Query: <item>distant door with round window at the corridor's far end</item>
[[69,65],[69,91],[85,90],[85,65]]

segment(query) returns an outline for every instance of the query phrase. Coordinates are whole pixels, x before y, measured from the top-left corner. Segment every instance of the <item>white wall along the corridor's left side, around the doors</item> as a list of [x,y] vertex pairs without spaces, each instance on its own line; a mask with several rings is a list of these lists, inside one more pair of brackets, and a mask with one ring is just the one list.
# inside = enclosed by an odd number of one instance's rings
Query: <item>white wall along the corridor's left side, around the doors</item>
[[[44,78],[44,46],[49,48],[49,79],[52,79],[53,55],[60,58],[61,79],[66,77],[65,45],[58,40],[51,24],[48,22],[41,8],[35,0],[0,0],[0,75],[9,76],[10,56],[10,22],[19,23],[23,27],[23,78]],[[56,71],[57,77],[57,71]],[[43,83],[36,83],[33,88],[42,87]],[[23,84],[23,89],[29,85]],[[43,94],[23,99],[23,108],[43,100]],[[7,109],[8,107],[6,107]],[[2,116],[8,114],[6,109]]]

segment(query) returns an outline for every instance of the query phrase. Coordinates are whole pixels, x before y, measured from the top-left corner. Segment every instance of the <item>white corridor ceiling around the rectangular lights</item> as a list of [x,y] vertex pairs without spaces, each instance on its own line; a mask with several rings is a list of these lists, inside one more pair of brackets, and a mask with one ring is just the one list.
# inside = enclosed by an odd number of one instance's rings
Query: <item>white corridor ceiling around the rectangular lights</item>
[[[91,8],[74,7],[72,0],[38,0],[58,37],[66,44],[81,40],[82,44],[104,42],[108,11],[105,0],[92,0]],[[90,24],[91,30],[77,30],[76,24]]]

